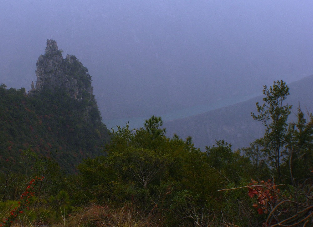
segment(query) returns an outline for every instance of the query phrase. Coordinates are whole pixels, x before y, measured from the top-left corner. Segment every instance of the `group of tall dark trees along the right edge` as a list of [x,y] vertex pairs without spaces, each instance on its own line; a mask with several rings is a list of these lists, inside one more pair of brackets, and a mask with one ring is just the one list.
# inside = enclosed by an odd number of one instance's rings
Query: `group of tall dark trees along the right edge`
[[299,107],[297,122],[287,124],[292,106],[284,104],[289,88],[283,81],[275,81],[269,89],[264,86],[263,93],[264,104],[256,103],[259,115],[252,113],[252,117],[266,127],[264,137],[243,151],[252,159],[258,177],[268,175],[265,163],[268,160],[280,181],[293,185],[303,182],[310,177],[313,168],[310,161],[313,158],[313,116],[308,114],[307,123]]

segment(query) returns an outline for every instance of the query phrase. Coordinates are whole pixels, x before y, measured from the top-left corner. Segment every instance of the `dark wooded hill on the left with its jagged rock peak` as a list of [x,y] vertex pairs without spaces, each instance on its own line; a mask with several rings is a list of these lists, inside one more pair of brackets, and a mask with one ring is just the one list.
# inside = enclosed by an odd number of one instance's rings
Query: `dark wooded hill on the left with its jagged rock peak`
[[109,141],[91,76],[75,56],[64,59],[54,40],[47,40],[36,75],[28,94],[0,86],[0,167],[23,171],[23,150],[30,148],[73,172],[82,159],[103,154]]

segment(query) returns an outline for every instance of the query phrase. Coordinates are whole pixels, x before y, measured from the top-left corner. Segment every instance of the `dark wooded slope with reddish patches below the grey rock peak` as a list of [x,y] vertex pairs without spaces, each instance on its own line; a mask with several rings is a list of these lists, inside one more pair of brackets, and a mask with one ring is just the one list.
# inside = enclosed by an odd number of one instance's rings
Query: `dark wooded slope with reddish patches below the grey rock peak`
[[[30,159],[53,158],[64,170],[87,157],[103,154],[109,134],[90,97],[74,100],[59,89],[25,93],[0,85],[1,166],[25,169]],[[90,106],[90,111],[85,109]],[[25,154],[30,150],[32,155]],[[29,157],[28,157],[29,156]],[[42,157],[41,157],[42,156]],[[22,171],[23,172],[23,171]]]

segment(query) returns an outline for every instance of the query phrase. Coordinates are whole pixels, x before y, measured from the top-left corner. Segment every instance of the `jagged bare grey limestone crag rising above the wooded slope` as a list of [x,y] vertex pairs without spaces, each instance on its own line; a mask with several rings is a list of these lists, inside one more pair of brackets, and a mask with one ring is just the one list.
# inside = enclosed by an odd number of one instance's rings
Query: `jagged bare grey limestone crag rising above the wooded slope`
[[46,90],[62,92],[77,101],[79,111],[86,120],[92,115],[92,121],[101,121],[88,69],[74,55],[67,55],[64,59],[52,39],[47,40],[45,54],[38,58],[36,76],[36,87],[32,83],[30,95]]

